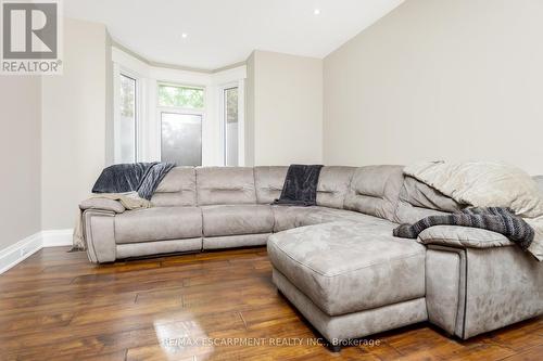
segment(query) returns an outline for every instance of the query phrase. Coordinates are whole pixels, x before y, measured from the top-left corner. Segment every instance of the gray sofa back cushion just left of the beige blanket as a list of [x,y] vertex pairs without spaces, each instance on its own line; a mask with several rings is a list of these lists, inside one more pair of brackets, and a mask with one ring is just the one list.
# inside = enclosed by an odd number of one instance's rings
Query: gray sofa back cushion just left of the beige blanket
[[403,166],[357,168],[345,197],[345,209],[395,221]]

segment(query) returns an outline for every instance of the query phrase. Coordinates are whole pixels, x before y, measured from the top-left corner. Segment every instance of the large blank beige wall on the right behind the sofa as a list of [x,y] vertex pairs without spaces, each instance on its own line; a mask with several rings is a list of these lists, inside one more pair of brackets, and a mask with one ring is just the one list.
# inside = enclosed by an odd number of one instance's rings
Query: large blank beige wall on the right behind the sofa
[[407,0],[324,62],[326,164],[543,173],[543,1]]

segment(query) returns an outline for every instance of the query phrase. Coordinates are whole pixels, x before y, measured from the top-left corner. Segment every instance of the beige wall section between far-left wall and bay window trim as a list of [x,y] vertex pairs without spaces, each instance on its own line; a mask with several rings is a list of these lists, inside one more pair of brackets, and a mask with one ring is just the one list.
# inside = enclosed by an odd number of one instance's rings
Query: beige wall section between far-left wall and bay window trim
[[42,228],[73,228],[111,158],[111,57],[104,25],[64,21],[64,74],[42,79]]

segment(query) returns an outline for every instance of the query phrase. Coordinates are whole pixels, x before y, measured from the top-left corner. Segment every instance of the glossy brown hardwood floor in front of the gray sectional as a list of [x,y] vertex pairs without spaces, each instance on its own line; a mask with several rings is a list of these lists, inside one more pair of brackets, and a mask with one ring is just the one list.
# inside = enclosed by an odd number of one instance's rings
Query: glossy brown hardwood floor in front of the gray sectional
[[543,360],[543,318],[467,341],[419,324],[331,353],[277,294],[265,248],[100,267],[66,250],[0,275],[0,360]]

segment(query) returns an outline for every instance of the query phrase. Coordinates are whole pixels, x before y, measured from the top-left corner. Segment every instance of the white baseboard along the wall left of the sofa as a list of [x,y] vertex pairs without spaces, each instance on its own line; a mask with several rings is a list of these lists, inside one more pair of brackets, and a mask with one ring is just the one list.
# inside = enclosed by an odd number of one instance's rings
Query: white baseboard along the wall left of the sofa
[[41,231],[0,250],[0,274],[43,247],[72,245],[73,230]]

